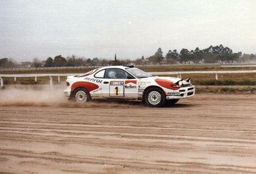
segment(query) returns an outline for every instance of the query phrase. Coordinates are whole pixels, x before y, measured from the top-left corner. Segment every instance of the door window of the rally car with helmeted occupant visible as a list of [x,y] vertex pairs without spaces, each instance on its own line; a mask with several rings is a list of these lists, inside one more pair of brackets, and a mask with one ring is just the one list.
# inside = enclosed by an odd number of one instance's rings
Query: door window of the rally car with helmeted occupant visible
[[131,79],[131,78],[133,78],[133,76],[131,76],[129,73],[123,71],[122,69],[107,69],[105,78]]

